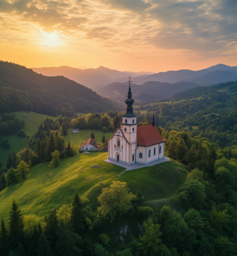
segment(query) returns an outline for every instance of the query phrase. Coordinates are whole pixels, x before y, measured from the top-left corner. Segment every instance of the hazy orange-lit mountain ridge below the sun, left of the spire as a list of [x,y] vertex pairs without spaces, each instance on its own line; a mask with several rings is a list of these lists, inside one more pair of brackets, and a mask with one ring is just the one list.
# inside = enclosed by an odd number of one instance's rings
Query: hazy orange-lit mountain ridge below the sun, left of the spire
[[105,68],[103,66],[99,68],[86,69],[72,68],[68,66],[32,69],[38,74],[47,76],[63,75],[64,77],[67,77],[92,89],[104,86],[105,84],[110,84],[114,80],[123,77],[124,80],[127,81],[129,75],[133,77],[145,75],[145,72],[121,72],[115,69]]

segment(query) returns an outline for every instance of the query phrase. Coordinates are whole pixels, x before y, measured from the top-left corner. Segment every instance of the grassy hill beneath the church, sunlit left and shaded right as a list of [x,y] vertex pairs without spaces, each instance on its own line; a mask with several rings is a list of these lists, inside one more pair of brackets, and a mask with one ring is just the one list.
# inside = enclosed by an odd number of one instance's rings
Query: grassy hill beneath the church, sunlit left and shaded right
[[[113,180],[127,182],[132,192],[142,191],[144,205],[161,207],[164,204],[162,200],[169,202],[169,198],[178,195],[178,189],[186,178],[187,170],[173,160],[129,170],[119,176],[124,168],[104,162],[105,159],[107,153],[94,152],[67,157],[55,169],[49,167],[49,162],[33,166],[24,181],[0,192],[0,219],[8,220],[13,199],[23,214],[43,217],[52,208],[70,204],[75,191],[88,198],[91,207],[98,207],[97,197],[101,188],[108,187]],[[101,167],[93,168],[94,164]]]

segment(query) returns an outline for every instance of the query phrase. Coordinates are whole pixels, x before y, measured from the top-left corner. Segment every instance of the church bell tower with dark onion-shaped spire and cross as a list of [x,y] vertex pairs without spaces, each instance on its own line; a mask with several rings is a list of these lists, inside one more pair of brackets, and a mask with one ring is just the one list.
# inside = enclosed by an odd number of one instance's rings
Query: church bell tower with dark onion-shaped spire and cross
[[137,139],[137,121],[136,116],[133,113],[133,103],[132,91],[131,91],[131,77],[129,75],[129,91],[127,92],[127,99],[125,103],[127,104],[126,114],[123,116],[123,122],[121,128],[123,129],[123,134],[129,143],[136,143]]

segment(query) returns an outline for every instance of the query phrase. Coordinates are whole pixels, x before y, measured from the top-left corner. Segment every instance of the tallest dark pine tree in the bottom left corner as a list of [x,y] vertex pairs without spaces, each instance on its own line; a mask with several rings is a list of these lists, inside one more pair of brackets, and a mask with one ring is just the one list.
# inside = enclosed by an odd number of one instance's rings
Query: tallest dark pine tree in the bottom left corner
[[11,211],[9,214],[9,245],[12,250],[16,249],[19,242],[23,241],[23,217],[17,203],[13,200]]

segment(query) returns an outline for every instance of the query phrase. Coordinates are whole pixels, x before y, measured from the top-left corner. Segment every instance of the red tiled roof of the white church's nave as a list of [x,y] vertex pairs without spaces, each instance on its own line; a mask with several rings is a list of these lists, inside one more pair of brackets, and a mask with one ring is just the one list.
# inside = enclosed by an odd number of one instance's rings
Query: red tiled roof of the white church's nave
[[143,125],[137,127],[137,144],[138,146],[152,146],[164,142],[158,128],[153,125]]

